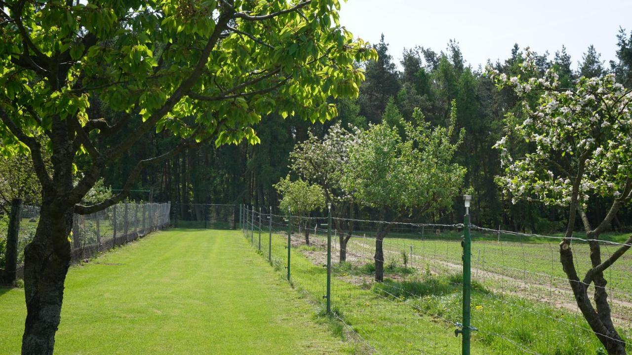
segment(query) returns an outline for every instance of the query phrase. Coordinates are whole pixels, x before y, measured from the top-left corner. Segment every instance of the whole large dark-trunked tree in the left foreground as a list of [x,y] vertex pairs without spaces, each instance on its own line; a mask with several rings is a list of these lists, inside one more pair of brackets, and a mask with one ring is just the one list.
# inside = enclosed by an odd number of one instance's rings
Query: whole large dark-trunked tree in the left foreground
[[[262,115],[331,119],[329,97],[358,95],[363,72],[355,63],[376,55],[339,25],[339,7],[339,0],[0,0],[3,155],[30,153],[42,184],[41,217],[25,250],[23,354],[52,354],[73,213],[121,201],[143,167],[185,148],[257,143],[252,127]],[[114,119],[90,116],[97,99]],[[120,193],[82,204],[104,169],[151,130],[179,143],[138,161]]]

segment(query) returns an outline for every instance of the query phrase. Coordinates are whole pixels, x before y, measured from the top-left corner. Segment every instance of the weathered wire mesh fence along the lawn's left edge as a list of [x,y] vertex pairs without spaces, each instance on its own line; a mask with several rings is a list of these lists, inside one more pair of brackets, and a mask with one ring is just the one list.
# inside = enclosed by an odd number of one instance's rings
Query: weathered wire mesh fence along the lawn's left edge
[[[77,263],[168,227],[170,210],[171,203],[119,203],[94,214],[75,214],[70,236],[71,262]],[[23,278],[24,248],[35,237],[39,215],[37,206],[21,208],[16,279]]]

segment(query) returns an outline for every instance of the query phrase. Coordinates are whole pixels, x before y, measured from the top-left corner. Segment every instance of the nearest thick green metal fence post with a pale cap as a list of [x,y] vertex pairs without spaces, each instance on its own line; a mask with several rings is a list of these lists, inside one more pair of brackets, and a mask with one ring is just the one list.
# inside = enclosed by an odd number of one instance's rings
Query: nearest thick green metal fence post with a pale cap
[[470,237],[470,195],[465,200],[465,216],[463,217],[463,347],[461,354],[470,355],[471,334],[471,237]]

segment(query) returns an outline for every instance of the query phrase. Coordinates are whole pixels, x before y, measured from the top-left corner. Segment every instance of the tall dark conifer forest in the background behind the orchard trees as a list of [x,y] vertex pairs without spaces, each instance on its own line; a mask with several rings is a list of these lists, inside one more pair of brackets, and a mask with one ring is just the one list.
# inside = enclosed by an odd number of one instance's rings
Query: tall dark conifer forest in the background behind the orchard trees
[[[617,35],[616,61],[605,63],[599,52],[590,45],[581,58],[574,59],[562,46],[554,54],[537,56],[538,68],[544,72],[554,68],[563,85],[572,87],[580,76],[601,76],[615,73],[617,80],[632,87],[632,33],[625,30]],[[538,206],[533,203],[513,204],[511,196],[502,195],[495,176],[499,174],[498,152],[492,146],[501,138],[506,126],[506,112],[516,109],[513,93],[498,91],[484,74],[484,68],[474,68],[466,62],[458,42],[451,40],[444,51],[427,47],[405,49],[400,63],[389,52],[382,36],[374,45],[379,54],[377,61],[358,63],[366,70],[366,81],[360,87],[356,100],[337,100],[343,126],[365,128],[370,123],[402,116],[411,119],[415,107],[419,107],[425,119],[435,125],[449,121],[450,107],[456,101],[457,126],[465,128],[466,136],[459,148],[458,162],[467,168],[465,186],[473,188],[473,221],[484,226],[502,226],[517,231],[555,231],[563,226],[564,211]],[[518,44],[511,49],[504,61],[487,65],[511,75],[518,71],[523,52]],[[399,65],[398,65],[399,64]],[[138,188],[154,188],[155,200],[184,203],[247,203],[255,208],[279,205],[279,196],[272,184],[288,174],[289,152],[296,143],[307,138],[311,129],[322,136],[333,122],[306,123],[300,118],[283,119],[278,114],[263,119],[256,127],[261,143],[255,146],[241,144],[216,148],[214,145],[197,150],[185,150],[164,164],[150,167],[143,172]],[[143,140],[143,150],[160,153],[166,150],[162,133],[150,133]],[[133,169],[135,152],[130,159],[123,159],[106,174],[106,184],[117,188],[121,171]],[[131,198],[147,198],[147,193],[133,193]],[[597,202],[595,214],[605,214],[607,201]],[[453,208],[441,214],[425,216],[426,220],[456,222],[463,210],[461,201],[455,200]],[[186,218],[185,208],[178,212]],[[363,217],[376,217],[370,211],[358,211]],[[624,229],[632,224],[632,212],[622,211],[613,223],[614,229]]]

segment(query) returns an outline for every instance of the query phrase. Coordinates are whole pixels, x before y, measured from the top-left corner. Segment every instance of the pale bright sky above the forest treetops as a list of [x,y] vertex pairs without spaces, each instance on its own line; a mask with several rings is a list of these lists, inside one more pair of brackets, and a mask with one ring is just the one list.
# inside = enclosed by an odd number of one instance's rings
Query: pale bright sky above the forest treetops
[[348,0],[340,22],[372,44],[384,33],[398,64],[404,48],[439,52],[455,39],[473,68],[506,59],[515,43],[550,58],[566,45],[574,68],[593,44],[609,66],[619,26],[632,30],[632,0]]

